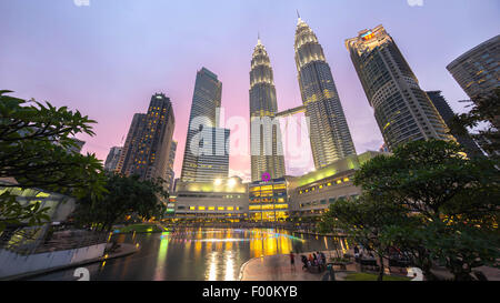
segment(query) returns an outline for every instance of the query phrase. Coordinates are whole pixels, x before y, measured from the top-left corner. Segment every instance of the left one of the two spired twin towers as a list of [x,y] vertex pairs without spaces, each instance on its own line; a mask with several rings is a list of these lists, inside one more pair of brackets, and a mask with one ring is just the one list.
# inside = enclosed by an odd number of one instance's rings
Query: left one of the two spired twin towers
[[[250,144],[252,181],[284,175],[284,155],[278,119],[276,88],[268,52],[260,39],[253,49],[250,70]],[[273,123],[274,122],[274,123]]]

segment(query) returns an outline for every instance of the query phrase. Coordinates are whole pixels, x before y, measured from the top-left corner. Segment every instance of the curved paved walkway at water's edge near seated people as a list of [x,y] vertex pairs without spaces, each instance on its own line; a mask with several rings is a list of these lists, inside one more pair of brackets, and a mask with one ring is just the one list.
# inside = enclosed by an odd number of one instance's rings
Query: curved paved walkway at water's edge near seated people
[[[311,252],[312,253],[312,252]],[[329,252],[323,252],[329,257]],[[309,253],[301,253],[309,255]],[[296,266],[290,265],[290,255],[277,254],[254,257],[241,266],[241,281],[321,281],[327,274],[310,273],[302,270],[300,255],[296,254]],[[337,267],[337,266],[336,266]],[[356,265],[348,265],[347,271],[339,272],[336,269],[336,280],[341,281],[348,272],[356,272]]]

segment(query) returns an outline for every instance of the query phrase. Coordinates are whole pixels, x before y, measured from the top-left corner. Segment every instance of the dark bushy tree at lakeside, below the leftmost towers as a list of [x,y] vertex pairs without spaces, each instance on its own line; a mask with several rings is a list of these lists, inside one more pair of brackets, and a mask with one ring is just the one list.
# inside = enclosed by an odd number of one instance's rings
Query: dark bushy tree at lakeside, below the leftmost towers
[[87,195],[79,200],[74,212],[81,225],[92,225],[101,231],[110,231],[113,224],[126,215],[134,214],[143,220],[160,218],[164,211],[163,191],[160,180],[139,180],[139,176],[106,174],[107,192],[100,199]]

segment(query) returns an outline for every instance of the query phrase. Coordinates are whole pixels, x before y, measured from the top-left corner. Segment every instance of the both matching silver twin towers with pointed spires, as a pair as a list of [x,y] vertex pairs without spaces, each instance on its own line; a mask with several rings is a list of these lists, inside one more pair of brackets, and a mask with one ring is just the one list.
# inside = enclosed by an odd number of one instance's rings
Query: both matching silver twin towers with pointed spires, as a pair
[[[314,32],[300,17],[294,50],[302,103],[309,119],[312,158],[316,169],[321,169],[336,160],[356,154],[354,144],[323,49]],[[259,39],[250,71],[252,182],[263,176],[284,176],[280,125],[274,119],[277,112],[272,68]]]

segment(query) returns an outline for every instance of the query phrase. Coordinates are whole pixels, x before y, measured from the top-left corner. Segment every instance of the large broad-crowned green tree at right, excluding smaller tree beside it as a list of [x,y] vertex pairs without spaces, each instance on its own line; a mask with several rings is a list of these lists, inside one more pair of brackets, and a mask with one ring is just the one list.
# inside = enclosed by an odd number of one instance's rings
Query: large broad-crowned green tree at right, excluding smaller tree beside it
[[[417,219],[413,226],[404,221],[391,233],[386,231],[386,241],[413,251],[421,264],[446,261],[461,280],[471,269],[499,257],[497,163],[464,158],[456,142],[413,141],[396,149],[393,155],[363,164],[354,184],[374,200],[403,205]],[[467,235],[472,234],[474,246],[467,246]],[[449,243],[456,244],[454,250]],[[458,270],[460,262],[463,272]]]

